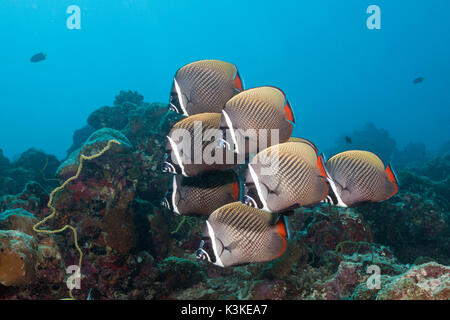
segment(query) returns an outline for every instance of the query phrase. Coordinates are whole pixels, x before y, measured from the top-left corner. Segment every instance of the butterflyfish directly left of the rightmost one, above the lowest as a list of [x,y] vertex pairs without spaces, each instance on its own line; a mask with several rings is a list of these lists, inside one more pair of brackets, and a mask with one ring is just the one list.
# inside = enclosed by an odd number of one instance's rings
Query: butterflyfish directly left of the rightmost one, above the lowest
[[251,207],[278,213],[313,205],[328,195],[325,177],[312,142],[297,139],[281,143],[251,160],[243,201]]

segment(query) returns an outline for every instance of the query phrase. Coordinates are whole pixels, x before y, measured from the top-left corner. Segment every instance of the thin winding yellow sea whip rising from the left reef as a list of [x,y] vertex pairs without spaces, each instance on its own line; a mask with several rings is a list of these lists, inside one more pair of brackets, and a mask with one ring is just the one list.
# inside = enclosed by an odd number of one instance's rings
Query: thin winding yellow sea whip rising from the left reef
[[[92,156],[85,156],[84,154],[80,155],[80,164],[78,165],[78,170],[77,173],[67,179],[61,186],[57,187],[56,189],[54,189],[51,193],[50,193],[50,197],[47,203],[47,207],[50,209],[51,213],[45,217],[44,219],[42,219],[41,221],[39,221],[38,223],[36,223],[33,226],[33,230],[37,233],[45,233],[45,234],[55,234],[55,233],[60,233],[63,232],[67,229],[72,230],[73,232],[73,237],[74,237],[74,243],[75,243],[75,247],[78,250],[78,253],[80,254],[80,258],[78,260],[78,276],[81,278],[81,263],[83,261],[83,251],[81,251],[80,246],[78,245],[78,234],[77,234],[77,229],[75,229],[75,227],[71,226],[71,225],[65,225],[64,227],[57,229],[57,230],[40,230],[38,229],[39,226],[41,226],[42,224],[44,224],[45,222],[47,222],[48,220],[52,219],[55,215],[56,215],[56,208],[53,206],[53,197],[55,196],[55,194],[64,189],[67,184],[69,184],[71,181],[78,179],[78,177],[80,176],[81,170],[83,169],[83,161],[85,160],[93,160],[95,158],[98,158],[100,156],[102,156],[106,151],[108,151],[109,149],[111,149],[111,145],[115,143],[115,144],[121,144],[119,141],[117,140],[109,140],[108,143],[106,144],[106,146],[99,152],[96,153]],[[72,289],[69,289],[69,295],[71,299],[75,299],[73,297],[72,294]]]

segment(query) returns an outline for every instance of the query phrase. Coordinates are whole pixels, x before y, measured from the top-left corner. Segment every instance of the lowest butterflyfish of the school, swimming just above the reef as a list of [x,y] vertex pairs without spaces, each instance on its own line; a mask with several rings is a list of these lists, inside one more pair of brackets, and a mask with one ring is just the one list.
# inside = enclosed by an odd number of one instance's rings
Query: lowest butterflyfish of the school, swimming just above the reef
[[286,251],[288,238],[285,217],[234,202],[209,216],[196,256],[223,268],[266,262]]

